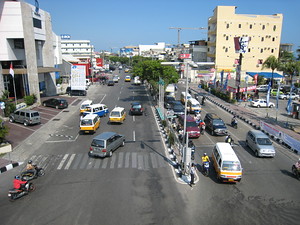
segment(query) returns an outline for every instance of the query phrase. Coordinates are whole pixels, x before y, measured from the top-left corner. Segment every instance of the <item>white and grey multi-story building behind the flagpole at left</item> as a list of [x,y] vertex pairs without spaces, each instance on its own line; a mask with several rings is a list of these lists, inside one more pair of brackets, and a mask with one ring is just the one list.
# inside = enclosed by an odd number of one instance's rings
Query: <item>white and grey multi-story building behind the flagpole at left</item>
[[60,38],[52,32],[50,14],[24,1],[1,1],[0,9],[0,92],[17,99],[34,94],[38,102],[41,92],[55,95]]

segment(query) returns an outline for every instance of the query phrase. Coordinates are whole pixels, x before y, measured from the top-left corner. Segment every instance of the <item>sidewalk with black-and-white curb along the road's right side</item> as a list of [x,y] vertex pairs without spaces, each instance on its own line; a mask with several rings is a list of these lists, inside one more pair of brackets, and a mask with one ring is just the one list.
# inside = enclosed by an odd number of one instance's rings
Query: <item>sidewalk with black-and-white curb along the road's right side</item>
[[[297,132],[288,129],[286,127],[286,122],[289,122],[289,125],[292,125],[292,127],[300,127],[300,120],[299,119],[293,119],[291,117],[287,117],[285,115],[282,115],[278,113],[277,121],[275,118],[272,117],[265,117],[262,115],[259,115],[253,110],[251,107],[245,105],[249,103],[240,103],[240,104],[231,104],[228,102],[223,101],[222,99],[216,97],[215,95],[212,95],[205,91],[204,89],[198,88],[197,84],[189,84],[191,90],[193,93],[202,93],[207,96],[207,99],[211,101],[212,103],[218,105],[219,107],[223,108],[224,110],[228,111],[231,114],[235,114],[239,119],[245,121],[246,123],[253,126],[255,129],[260,129],[260,121],[263,121],[265,123],[268,123],[272,125],[273,128],[275,128],[278,131],[281,131],[282,133],[285,133],[289,135],[290,137],[294,138],[295,140],[300,140],[300,134]],[[271,134],[268,134],[274,141],[278,142],[279,144],[282,144],[283,146],[292,149],[291,146],[289,146],[287,143],[284,143],[282,140],[280,140],[277,137],[272,136]],[[295,153],[299,154],[300,152],[297,150],[292,149]]]

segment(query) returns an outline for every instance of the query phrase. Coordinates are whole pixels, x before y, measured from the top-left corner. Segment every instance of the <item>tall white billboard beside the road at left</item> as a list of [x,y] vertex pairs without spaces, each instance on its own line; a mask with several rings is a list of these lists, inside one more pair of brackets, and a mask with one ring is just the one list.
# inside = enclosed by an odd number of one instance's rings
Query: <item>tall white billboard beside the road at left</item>
[[85,90],[86,88],[85,65],[72,65],[71,90]]

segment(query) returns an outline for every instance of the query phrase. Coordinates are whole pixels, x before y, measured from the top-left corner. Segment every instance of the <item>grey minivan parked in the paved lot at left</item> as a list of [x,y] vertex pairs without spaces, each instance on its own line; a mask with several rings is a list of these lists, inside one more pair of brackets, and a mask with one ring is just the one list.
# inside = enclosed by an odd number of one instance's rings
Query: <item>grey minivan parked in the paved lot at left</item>
[[29,110],[29,109],[20,109],[10,114],[9,122],[23,123],[24,126],[28,126],[33,124],[40,124],[41,117],[38,111]]

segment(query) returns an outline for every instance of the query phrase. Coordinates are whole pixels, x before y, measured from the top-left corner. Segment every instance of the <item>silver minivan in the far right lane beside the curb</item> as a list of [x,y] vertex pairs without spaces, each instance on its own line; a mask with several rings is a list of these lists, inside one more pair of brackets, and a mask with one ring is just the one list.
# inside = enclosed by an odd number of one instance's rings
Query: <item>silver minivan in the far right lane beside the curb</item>
[[274,157],[275,149],[269,137],[260,130],[250,130],[246,136],[246,144],[256,157]]

